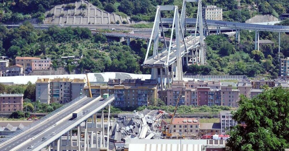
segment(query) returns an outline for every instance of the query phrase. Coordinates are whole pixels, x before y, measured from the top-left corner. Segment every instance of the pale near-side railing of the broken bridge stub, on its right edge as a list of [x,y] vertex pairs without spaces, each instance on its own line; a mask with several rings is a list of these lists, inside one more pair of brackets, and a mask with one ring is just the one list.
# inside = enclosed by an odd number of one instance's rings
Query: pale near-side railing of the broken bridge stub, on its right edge
[[[114,100],[114,95],[110,95],[108,98],[106,98],[105,100],[102,101],[102,103],[101,103],[101,105],[99,105],[99,107],[105,107],[105,105],[108,105],[113,100]],[[100,110],[99,108],[96,108],[96,109],[94,109],[92,111],[89,111],[88,113],[85,113],[84,115],[82,115],[81,117],[79,117],[75,121],[73,121],[71,124],[69,124],[68,126],[62,128],[60,131],[58,131],[54,135],[48,137],[45,141],[42,141],[40,144],[34,146],[34,148],[32,148],[30,151],[40,150],[41,148],[43,148],[44,146],[48,145],[49,143],[51,143],[55,139],[61,137],[61,135],[63,135],[67,131],[69,131],[71,129],[71,127],[73,128],[74,126],[77,126],[78,124],[80,124],[85,119],[89,118],[91,115],[93,115],[94,113],[96,113],[99,110]]]

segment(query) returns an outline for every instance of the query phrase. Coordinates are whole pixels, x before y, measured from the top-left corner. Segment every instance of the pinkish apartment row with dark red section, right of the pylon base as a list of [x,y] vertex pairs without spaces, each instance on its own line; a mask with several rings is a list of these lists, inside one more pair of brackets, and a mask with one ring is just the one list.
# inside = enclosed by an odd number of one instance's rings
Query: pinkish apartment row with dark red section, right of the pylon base
[[[219,81],[214,81],[214,83],[213,81],[205,81],[207,84],[204,85],[193,85],[192,83],[194,81],[173,81],[171,88],[166,90],[166,105],[175,105],[179,93],[182,87],[184,87],[179,105],[237,106],[238,90],[234,90],[232,87],[221,87]],[[201,81],[201,83],[204,82]]]

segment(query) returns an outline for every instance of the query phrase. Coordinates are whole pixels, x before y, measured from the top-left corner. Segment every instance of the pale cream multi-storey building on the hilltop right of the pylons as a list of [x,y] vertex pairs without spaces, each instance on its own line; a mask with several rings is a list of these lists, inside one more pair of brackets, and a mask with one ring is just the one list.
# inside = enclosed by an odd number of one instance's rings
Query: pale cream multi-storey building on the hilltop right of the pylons
[[205,18],[209,20],[223,20],[223,8],[207,5],[205,7]]

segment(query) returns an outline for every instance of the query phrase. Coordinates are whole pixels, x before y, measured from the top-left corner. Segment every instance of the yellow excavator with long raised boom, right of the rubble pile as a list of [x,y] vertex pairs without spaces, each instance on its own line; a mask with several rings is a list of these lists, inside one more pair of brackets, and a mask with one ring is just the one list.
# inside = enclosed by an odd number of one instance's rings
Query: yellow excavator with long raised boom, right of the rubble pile
[[178,99],[177,99],[177,102],[176,102],[176,106],[175,106],[175,110],[174,110],[174,113],[172,114],[172,118],[171,118],[171,122],[170,122],[169,127],[167,128],[167,127],[165,126],[164,131],[162,131],[163,136],[165,136],[166,139],[173,139],[173,138],[179,139],[180,137],[185,138],[185,135],[182,135],[182,136],[180,136],[180,135],[173,136],[173,134],[171,133],[172,123],[173,123],[173,120],[174,120],[174,118],[175,118],[175,114],[176,114],[176,112],[177,112],[177,108],[178,108],[178,105],[179,105],[179,100],[180,100],[180,98],[181,98],[181,93],[183,92],[183,90],[184,90],[184,87],[182,87],[181,92],[179,93],[179,96],[178,96]]

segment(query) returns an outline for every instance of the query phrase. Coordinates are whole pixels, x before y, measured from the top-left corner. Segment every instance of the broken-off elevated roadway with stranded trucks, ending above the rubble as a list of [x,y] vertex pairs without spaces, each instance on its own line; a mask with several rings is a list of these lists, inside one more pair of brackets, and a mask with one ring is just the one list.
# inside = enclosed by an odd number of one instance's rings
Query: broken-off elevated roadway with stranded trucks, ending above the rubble
[[32,131],[24,131],[23,134],[17,136],[17,138],[10,138],[13,139],[12,141],[2,142],[0,144],[0,150],[29,150],[29,145],[36,146],[42,142],[43,137],[48,138],[51,136],[52,132],[56,133],[62,130],[62,128],[66,127],[68,124],[71,124],[73,121],[70,121],[69,119],[72,117],[73,112],[81,108],[83,108],[82,110],[84,112],[88,112],[89,110],[91,111],[103,104],[101,100],[101,97],[87,98],[85,96],[84,98],[78,100],[75,104],[66,107],[66,111],[59,111],[55,113],[55,117],[53,117],[51,120],[42,121],[39,123],[39,126],[35,127]]

